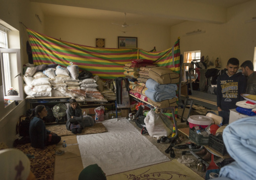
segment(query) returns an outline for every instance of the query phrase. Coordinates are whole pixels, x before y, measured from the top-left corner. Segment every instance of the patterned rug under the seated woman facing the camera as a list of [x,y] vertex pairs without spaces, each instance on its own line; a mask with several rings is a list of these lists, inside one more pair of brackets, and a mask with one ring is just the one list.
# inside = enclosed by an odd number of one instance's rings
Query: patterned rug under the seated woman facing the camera
[[[74,135],[71,131],[66,129],[66,124],[54,124],[54,125],[46,125],[46,129],[49,131],[52,131],[56,133],[59,136],[68,136],[68,135]],[[85,127],[82,130],[81,134],[96,134],[96,133],[103,133],[107,132],[107,129],[102,123],[96,123],[91,127]]]

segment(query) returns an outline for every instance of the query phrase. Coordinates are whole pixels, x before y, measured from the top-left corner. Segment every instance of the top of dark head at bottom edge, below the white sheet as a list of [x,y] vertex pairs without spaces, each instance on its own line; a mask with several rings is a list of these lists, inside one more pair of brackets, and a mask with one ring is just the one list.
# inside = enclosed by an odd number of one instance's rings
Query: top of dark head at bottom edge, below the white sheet
[[92,164],[85,167],[79,174],[78,180],[106,180],[106,175],[98,164]]

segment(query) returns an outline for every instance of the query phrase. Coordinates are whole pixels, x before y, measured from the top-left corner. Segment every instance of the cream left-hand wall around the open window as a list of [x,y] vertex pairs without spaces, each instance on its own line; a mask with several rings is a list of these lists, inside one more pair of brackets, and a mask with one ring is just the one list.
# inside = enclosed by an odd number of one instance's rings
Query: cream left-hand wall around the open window
[[[16,33],[20,35],[20,45],[14,43],[11,48],[21,48],[21,65],[26,64],[28,63],[26,53],[28,35],[24,26],[19,22],[24,23],[28,28],[43,33],[43,24],[35,17],[35,14],[37,14],[43,19],[42,12],[37,4],[31,3],[29,0],[0,0],[0,5],[0,23],[8,28],[12,27],[14,30],[19,31]],[[11,27],[9,27],[9,25]],[[2,74],[2,72],[0,73]],[[0,82],[0,142],[5,142],[8,147],[12,147],[16,136],[16,124],[19,117],[25,114],[28,109],[28,104],[26,104],[24,100],[21,101],[18,106],[12,103],[5,108],[3,106],[4,97],[2,85],[2,82]]]

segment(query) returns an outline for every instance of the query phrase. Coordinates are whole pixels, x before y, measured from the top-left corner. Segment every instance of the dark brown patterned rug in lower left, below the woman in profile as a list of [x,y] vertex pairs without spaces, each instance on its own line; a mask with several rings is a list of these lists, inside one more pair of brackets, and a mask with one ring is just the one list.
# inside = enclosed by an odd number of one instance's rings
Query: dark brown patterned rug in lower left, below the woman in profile
[[29,144],[17,145],[25,154],[30,154],[34,158],[29,158],[31,162],[31,171],[37,180],[53,179],[55,148],[56,145],[46,146],[44,149],[33,148]]

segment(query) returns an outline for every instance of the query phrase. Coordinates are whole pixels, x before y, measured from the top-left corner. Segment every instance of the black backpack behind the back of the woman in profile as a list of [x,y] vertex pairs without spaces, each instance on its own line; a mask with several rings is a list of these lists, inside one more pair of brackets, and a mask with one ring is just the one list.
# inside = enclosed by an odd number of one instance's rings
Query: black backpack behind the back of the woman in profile
[[20,116],[19,121],[16,125],[16,132],[20,136],[29,136],[29,124],[30,118],[28,116]]

